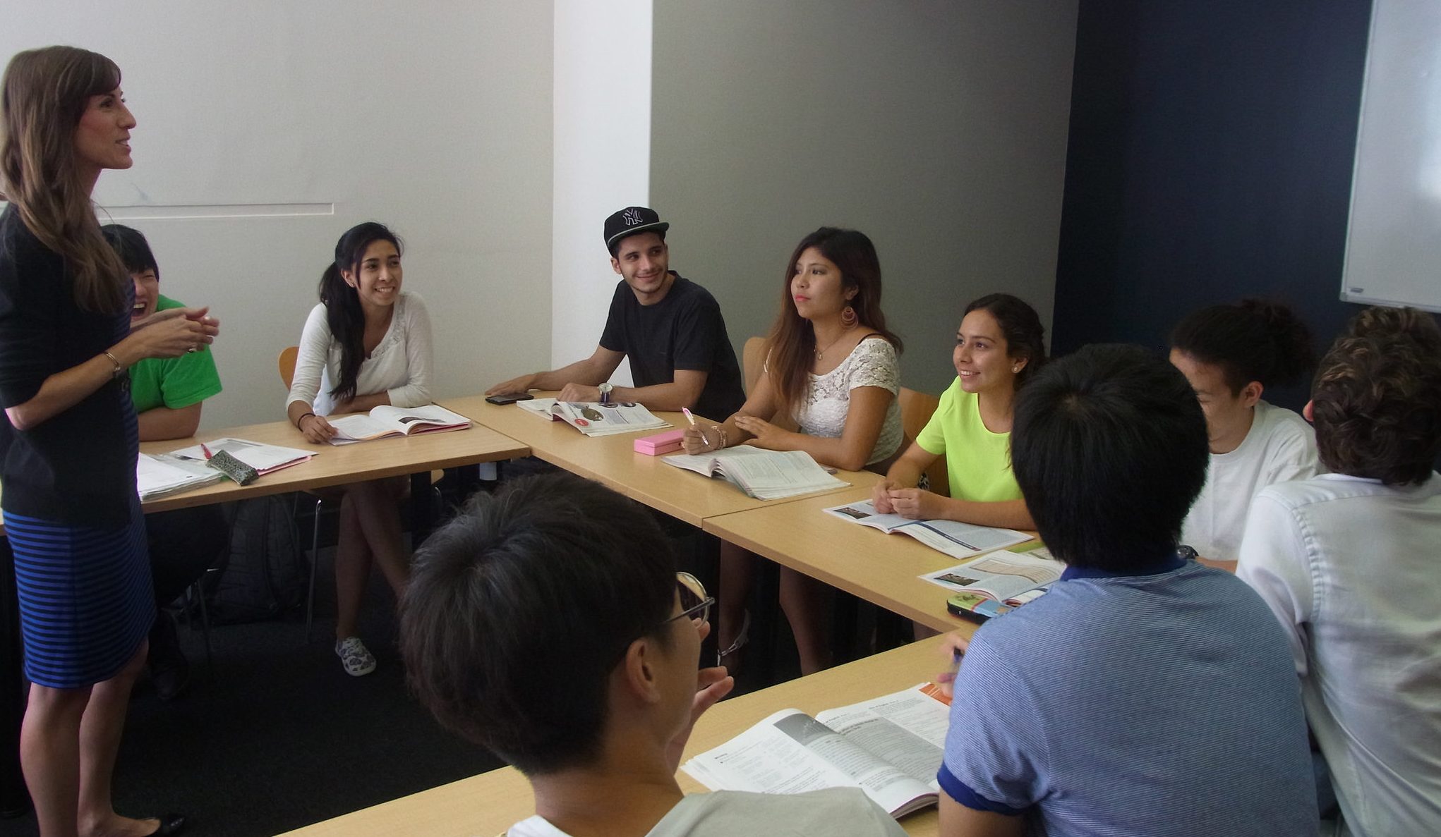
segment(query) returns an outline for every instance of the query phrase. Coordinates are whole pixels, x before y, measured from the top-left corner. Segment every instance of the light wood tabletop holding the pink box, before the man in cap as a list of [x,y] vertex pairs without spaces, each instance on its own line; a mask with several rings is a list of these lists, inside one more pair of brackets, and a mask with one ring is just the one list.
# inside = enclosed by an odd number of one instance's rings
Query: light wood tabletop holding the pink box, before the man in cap
[[[592,438],[565,422],[543,421],[516,405],[497,406],[478,395],[447,399],[441,403],[477,425],[526,444],[532,454],[553,465],[595,480],[692,526],[700,526],[703,520],[716,514],[784,506],[795,500],[794,497],[754,500],[725,480],[708,480],[693,471],[667,465],[660,457],[635,452],[637,438],[661,431]],[[656,415],[677,428],[686,426],[686,418],[679,412],[656,412]],[[880,480],[870,471],[840,471],[836,477],[866,488]]]

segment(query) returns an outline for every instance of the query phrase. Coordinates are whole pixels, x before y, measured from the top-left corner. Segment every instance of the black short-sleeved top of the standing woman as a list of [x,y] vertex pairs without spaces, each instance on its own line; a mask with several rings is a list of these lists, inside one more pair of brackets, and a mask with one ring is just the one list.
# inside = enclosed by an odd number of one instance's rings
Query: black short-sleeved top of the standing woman
[[[133,292],[130,282],[125,287]],[[14,206],[6,207],[0,215],[0,406],[30,400],[46,377],[95,357],[128,333],[130,307],[98,314],[76,305],[65,259],[35,238]],[[29,431],[0,419],[0,503],[14,514],[53,523],[124,526],[135,501],[134,428],[134,408],[121,380]]]

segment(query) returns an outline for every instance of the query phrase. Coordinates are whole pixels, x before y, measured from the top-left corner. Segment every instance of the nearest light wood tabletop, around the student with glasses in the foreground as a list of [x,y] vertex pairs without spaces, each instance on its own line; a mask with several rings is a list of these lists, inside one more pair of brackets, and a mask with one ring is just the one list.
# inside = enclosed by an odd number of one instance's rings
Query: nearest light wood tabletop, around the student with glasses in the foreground
[[[922,640],[800,680],[752,691],[733,700],[723,700],[696,725],[696,730],[686,745],[684,758],[689,759],[735,738],[762,717],[781,709],[800,709],[814,715],[824,709],[859,703],[929,680],[944,666],[938,645],[940,638]],[[686,792],[705,791],[684,771],[679,771],[676,778]],[[282,837],[391,837],[393,834],[488,837],[501,834],[532,814],[535,814],[535,795],[530,792],[530,784],[519,771],[500,768],[344,814],[334,820],[316,823]],[[935,808],[911,814],[901,820],[901,825],[909,834],[935,834]]]

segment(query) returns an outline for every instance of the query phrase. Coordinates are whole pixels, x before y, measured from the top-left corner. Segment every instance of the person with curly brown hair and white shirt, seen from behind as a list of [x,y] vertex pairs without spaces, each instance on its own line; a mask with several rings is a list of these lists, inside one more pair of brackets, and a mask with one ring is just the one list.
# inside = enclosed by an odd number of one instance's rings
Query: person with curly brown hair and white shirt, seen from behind
[[1369,308],[1306,415],[1330,474],[1262,488],[1236,575],[1291,640],[1344,831],[1441,831],[1441,330]]

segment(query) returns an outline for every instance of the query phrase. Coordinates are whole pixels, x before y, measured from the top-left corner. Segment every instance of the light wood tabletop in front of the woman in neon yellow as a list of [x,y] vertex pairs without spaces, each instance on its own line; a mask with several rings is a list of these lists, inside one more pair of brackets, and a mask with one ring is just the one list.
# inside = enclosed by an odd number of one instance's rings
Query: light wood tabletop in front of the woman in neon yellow
[[768,509],[708,517],[703,529],[937,631],[971,622],[945,609],[944,588],[916,578],[960,563],[906,534],[886,534],[821,511],[870,498],[852,488]]

